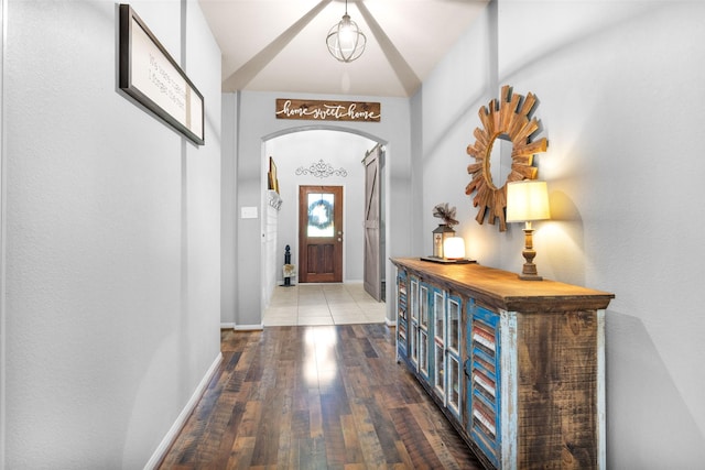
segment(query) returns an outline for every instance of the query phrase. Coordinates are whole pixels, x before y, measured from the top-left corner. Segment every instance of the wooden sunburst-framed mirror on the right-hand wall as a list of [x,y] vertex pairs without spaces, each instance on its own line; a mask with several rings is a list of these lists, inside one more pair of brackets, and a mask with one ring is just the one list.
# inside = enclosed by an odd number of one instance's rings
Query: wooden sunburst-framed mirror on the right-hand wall
[[[475,157],[475,163],[467,166],[473,179],[465,187],[465,194],[469,196],[475,192],[473,206],[478,208],[475,220],[480,225],[487,216],[489,223],[495,225],[499,220],[499,230],[506,231],[507,183],[536,178],[539,170],[532,166],[533,155],[545,152],[549,142],[546,138],[530,142],[531,135],[539,129],[539,121],[529,119],[535,103],[533,94],[529,92],[524,98],[512,94],[511,87],[506,85],[499,102],[492,99],[478,111],[482,128],[475,129],[475,143],[467,146],[467,153]],[[490,173],[490,155],[495,141],[500,136],[511,141],[512,150],[511,170],[498,185]]]

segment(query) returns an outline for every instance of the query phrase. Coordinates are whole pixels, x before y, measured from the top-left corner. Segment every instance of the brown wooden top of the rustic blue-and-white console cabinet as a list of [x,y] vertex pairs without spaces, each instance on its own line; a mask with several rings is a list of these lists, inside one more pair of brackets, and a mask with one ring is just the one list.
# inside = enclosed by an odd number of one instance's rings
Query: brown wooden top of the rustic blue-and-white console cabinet
[[571,311],[604,309],[615,294],[556,281],[522,281],[510,273],[479,264],[442,264],[419,258],[392,258],[398,267],[433,278],[451,291],[469,291],[476,300],[509,311]]

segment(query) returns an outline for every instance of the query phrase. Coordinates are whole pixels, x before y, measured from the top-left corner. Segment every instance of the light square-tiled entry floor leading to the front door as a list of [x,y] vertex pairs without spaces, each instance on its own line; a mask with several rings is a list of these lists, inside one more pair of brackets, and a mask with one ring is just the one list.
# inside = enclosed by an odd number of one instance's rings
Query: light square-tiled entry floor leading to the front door
[[362,283],[276,286],[264,310],[264,326],[384,323],[386,304]]

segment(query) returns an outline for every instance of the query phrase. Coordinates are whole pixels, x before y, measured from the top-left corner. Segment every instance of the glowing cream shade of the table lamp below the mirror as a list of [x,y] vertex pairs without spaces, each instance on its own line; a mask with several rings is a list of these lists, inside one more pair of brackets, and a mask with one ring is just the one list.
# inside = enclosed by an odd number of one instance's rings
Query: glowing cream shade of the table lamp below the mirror
[[507,183],[507,221],[524,222],[551,218],[545,182],[524,179]]

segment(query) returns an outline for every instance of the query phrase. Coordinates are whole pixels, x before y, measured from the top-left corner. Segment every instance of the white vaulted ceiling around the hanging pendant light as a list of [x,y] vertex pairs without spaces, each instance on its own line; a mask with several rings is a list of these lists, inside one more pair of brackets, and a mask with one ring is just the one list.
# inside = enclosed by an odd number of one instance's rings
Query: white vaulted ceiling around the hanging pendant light
[[223,90],[412,96],[488,0],[348,0],[367,36],[336,61],[328,30],[345,0],[199,0],[223,53]]

